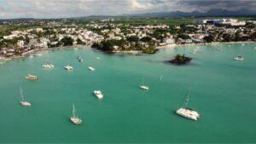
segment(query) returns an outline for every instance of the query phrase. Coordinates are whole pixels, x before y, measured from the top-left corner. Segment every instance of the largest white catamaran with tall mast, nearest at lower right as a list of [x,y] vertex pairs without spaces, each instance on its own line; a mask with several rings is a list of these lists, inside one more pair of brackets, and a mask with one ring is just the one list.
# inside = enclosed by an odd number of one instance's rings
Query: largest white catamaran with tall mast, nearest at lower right
[[[190,90],[189,90],[189,92],[190,92]],[[185,107],[181,107],[181,108],[177,109],[176,113],[184,118],[198,120],[198,118],[200,118],[200,114],[198,112],[196,112],[195,110],[189,108],[188,104],[189,104],[189,93],[186,98]]]

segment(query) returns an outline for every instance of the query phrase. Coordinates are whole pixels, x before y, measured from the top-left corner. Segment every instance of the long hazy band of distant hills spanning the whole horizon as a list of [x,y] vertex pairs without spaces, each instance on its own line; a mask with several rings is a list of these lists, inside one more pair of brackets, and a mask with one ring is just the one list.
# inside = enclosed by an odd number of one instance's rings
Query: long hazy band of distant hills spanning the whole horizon
[[[162,12],[162,13],[144,13],[144,14],[119,14],[119,15],[89,15],[81,17],[69,17],[69,18],[55,18],[55,19],[34,19],[34,18],[20,18],[20,19],[8,19],[16,21],[28,21],[28,20],[102,20],[102,19],[111,19],[111,18],[126,18],[126,17],[135,17],[135,18],[183,18],[183,17],[255,17],[256,10],[249,9],[239,9],[236,11],[226,10],[226,9],[210,9],[207,12],[183,12],[183,11],[173,11],[173,12]],[[6,21],[6,20],[0,20]]]

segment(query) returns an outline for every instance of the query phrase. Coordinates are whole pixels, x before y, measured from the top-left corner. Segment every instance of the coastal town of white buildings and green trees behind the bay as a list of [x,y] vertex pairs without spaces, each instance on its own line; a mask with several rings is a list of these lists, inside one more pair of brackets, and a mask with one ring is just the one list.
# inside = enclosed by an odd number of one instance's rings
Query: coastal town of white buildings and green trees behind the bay
[[2,21],[0,30],[5,30],[0,32],[0,60],[31,55],[38,50],[81,45],[108,53],[154,54],[158,48],[168,45],[256,41],[256,21],[236,19],[204,19],[182,25],[157,22],[134,25],[114,19],[86,23]]

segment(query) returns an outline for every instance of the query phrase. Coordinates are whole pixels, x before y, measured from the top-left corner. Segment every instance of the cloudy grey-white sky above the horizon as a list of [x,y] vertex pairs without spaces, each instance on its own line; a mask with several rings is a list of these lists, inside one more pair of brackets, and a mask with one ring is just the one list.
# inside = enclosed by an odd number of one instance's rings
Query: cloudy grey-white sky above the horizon
[[0,19],[60,18],[208,9],[253,9],[256,0],[0,0]]

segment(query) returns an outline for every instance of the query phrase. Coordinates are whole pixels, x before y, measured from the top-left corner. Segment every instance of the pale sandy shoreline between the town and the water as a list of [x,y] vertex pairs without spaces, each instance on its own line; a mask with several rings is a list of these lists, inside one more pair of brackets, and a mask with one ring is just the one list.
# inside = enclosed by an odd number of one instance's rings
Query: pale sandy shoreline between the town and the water
[[[212,42],[212,43],[183,43],[183,44],[167,44],[165,46],[157,46],[155,49],[173,49],[173,48],[178,48],[178,47],[182,47],[182,46],[201,46],[201,45],[212,45],[212,44],[223,44],[223,43],[230,43],[230,44],[236,44],[236,43],[256,43],[255,41],[245,41],[245,42]],[[15,59],[20,59],[20,58],[25,58],[25,57],[29,57],[32,55],[35,55],[38,52],[41,51],[55,51],[55,50],[61,50],[61,49],[82,49],[88,47],[91,49],[91,45],[73,45],[73,46],[62,46],[62,47],[54,47],[54,48],[43,48],[43,49],[32,49],[31,51],[27,51],[25,53],[23,53],[22,55],[15,55],[13,57],[9,57],[9,58],[2,58],[0,59],[0,62],[5,62],[5,61],[9,61],[9,60],[15,60]],[[125,51],[113,51],[113,54],[129,54],[129,55],[143,55],[143,52],[140,50],[125,50]]]

